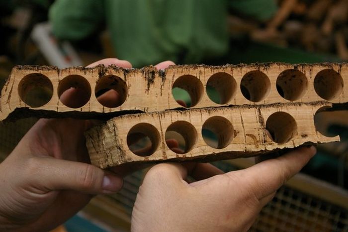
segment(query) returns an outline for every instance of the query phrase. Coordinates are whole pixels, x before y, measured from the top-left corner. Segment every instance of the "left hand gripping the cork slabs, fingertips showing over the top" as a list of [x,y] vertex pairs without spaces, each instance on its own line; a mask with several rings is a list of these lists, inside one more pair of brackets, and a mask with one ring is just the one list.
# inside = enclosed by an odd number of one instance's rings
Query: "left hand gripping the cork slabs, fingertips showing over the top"
[[[104,59],[89,67],[98,64],[131,68],[128,61],[118,59]],[[79,91],[70,88],[60,100],[74,106]],[[110,90],[98,101],[112,103],[117,98],[118,93]],[[93,195],[122,188],[122,176],[134,169],[108,172],[89,164],[84,132],[91,125],[90,120],[40,119],[0,163],[0,231],[48,231],[75,215]]]

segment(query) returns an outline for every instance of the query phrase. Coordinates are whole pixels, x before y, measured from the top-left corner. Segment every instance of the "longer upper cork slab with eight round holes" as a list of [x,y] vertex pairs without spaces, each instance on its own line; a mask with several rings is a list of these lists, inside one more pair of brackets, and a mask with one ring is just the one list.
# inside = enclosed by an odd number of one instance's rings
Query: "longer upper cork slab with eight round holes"
[[[171,66],[164,71],[157,71],[152,66],[143,69],[97,66],[63,70],[16,66],[1,92],[0,120],[8,116],[111,118],[182,108],[172,95],[174,87],[189,93],[192,100],[190,109],[323,100],[342,104],[348,100],[348,85],[344,80],[348,80],[346,63],[183,65]],[[61,92],[70,87],[83,90],[87,99],[81,106],[72,108],[60,101]],[[215,103],[209,98],[207,87],[219,92],[220,102]],[[46,94],[52,96],[42,104],[28,105],[25,95],[35,88],[45,89],[50,92]],[[105,88],[115,89],[121,95],[119,106],[107,107],[97,101],[96,92]],[[33,98],[41,98],[39,94],[31,94]]]

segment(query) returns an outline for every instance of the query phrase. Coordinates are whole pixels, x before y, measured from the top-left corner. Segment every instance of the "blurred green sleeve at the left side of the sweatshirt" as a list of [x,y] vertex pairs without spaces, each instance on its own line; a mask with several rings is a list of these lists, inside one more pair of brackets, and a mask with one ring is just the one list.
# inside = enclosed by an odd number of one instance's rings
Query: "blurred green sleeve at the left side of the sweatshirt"
[[79,40],[104,21],[103,0],[56,0],[49,10],[53,34],[59,39]]

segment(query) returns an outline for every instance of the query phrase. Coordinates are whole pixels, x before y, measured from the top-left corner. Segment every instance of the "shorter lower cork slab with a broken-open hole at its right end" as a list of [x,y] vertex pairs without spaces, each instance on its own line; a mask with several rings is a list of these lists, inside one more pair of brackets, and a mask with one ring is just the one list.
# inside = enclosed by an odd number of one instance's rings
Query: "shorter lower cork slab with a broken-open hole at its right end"
[[[275,149],[339,141],[339,136],[323,136],[314,125],[315,113],[330,106],[326,102],[248,105],[119,116],[87,131],[87,148],[92,164],[101,168],[135,162],[248,157]],[[204,140],[203,127],[218,134],[218,148]],[[266,127],[279,143],[270,138]],[[167,130],[183,135],[187,145],[184,154],[167,146]],[[130,150],[127,136],[132,131],[150,137],[152,154],[143,157]]]

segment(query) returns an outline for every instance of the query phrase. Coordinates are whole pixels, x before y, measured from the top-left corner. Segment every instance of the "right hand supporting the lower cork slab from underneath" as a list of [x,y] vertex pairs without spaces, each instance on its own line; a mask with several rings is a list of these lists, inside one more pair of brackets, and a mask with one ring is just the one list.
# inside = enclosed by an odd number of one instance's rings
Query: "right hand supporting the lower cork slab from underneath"
[[[132,231],[247,231],[276,190],[315,152],[313,146],[302,147],[225,174],[208,163],[155,165],[139,189]],[[186,182],[188,175],[197,181]]]

